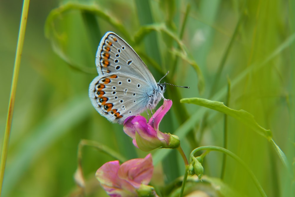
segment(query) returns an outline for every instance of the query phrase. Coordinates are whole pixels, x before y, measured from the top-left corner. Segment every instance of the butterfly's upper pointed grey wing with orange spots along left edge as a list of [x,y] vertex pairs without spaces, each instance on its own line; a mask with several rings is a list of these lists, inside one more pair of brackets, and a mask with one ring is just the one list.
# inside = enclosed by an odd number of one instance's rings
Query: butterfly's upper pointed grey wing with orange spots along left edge
[[96,68],[99,76],[128,73],[157,86],[148,67],[122,38],[114,32],[106,32],[96,52]]

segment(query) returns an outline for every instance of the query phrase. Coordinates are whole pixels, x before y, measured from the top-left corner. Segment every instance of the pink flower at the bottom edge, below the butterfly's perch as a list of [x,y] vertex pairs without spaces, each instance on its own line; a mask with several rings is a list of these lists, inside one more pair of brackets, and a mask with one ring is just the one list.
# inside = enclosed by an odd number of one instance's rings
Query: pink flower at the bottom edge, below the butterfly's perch
[[153,187],[147,185],[152,178],[154,166],[151,154],[144,159],[131,159],[121,166],[111,161],[96,171],[96,178],[112,197],[139,197],[146,194],[157,196]]

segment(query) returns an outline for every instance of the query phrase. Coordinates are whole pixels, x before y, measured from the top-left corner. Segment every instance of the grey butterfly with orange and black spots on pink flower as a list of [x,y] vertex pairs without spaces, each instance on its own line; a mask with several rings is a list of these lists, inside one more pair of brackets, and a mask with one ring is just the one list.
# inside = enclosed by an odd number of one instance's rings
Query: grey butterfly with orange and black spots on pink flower
[[165,83],[155,81],[148,67],[122,38],[106,32],[96,52],[96,76],[89,97],[100,115],[123,124],[129,116],[154,109],[164,98]]

